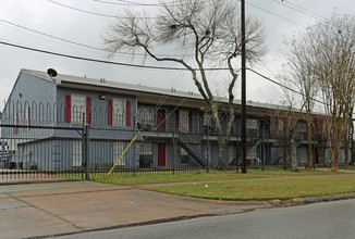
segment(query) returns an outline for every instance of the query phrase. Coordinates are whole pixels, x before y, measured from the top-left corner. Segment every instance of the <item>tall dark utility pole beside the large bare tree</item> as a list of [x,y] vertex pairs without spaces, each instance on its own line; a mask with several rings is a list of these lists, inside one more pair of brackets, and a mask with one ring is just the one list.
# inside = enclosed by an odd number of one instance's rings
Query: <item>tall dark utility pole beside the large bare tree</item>
[[242,34],[242,173],[246,173],[246,67],[245,67],[245,0],[241,0]]

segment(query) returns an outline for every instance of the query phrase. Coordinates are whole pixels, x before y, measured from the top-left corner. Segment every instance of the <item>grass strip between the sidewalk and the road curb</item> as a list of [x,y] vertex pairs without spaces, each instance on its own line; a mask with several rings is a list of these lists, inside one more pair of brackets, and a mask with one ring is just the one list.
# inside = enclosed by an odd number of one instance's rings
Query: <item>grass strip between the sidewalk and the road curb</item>
[[292,199],[355,192],[355,176],[281,178],[233,183],[151,187],[172,194],[222,200]]

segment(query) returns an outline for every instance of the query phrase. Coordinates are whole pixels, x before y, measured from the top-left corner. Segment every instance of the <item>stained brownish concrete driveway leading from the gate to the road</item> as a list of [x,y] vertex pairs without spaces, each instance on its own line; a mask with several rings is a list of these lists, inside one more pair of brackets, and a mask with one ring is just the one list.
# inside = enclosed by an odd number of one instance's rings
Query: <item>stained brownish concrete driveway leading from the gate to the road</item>
[[0,186],[0,238],[66,235],[269,207],[90,181]]

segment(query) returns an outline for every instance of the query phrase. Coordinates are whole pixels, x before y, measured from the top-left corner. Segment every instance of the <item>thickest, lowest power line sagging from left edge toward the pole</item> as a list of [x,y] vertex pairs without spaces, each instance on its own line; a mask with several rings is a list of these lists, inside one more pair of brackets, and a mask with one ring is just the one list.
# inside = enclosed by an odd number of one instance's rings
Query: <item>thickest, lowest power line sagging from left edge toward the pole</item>
[[[28,51],[40,52],[40,53],[45,53],[45,54],[57,55],[57,56],[61,56],[61,58],[70,58],[70,59],[75,59],[75,60],[81,60],[81,61],[97,62],[97,63],[111,64],[111,65],[121,65],[121,66],[137,67],[137,68],[167,70],[167,71],[189,71],[188,68],[181,68],[181,67],[137,65],[137,64],[128,64],[128,63],[122,63],[122,62],[112,62],[112,61],[103,61],[103,60],[98,60],[98,59],[83,58],[83,56],[77,56],[77,55],[72,55],[72,54],[63,54],[63,53],[58,53],[58,52],[53,52],[53,51],[46,51],[46,50],[41,50],[41,49],[24,47],[24,46],[20,46],[20,45],[10,43],[7,41],[0,41],[0,45],[19,48],[19,49],[23,49],[23,50],[28,50]],[[199,68],[193,68],[193,70],[200,71]],[[230,70],[229,68],[205,68],[205,71],[230,71]]]

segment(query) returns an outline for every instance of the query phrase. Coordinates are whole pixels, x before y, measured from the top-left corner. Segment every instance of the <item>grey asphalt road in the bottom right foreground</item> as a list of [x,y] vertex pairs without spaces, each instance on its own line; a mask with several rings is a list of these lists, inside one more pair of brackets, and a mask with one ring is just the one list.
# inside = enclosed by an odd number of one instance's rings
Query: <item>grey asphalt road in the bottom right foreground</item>
[[60,238],[355,238],[355,200],[262,209]]

